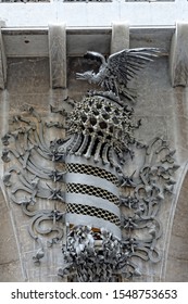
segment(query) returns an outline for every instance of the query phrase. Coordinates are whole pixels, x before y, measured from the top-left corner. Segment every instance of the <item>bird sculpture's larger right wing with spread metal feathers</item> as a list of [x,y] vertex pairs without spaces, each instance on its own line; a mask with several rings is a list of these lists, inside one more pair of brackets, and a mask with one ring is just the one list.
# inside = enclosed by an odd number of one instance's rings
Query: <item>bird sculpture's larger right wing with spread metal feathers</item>
[[125,49],[108,59],[108,68],[120,84],[126,85],[147,63],[162,55],[158,48]]

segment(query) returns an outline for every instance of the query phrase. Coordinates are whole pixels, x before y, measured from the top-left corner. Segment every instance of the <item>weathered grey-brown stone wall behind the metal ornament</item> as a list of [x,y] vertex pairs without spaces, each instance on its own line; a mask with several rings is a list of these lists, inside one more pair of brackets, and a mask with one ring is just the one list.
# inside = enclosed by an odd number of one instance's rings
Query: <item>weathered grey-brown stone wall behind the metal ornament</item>
[[[154,38],[155,37],[155,38]],[[171,36],[139,35],[130,41],[130,47],[171,48]],[[80,58],[67,59],[67,93],[74,100],[80,100],[90,88],[87,83],[75,79],[76,72],[91,69],[91,65]],[[168,56],[150,63],[139,77],[130,84],[138,92],[134,105],[136,118],[141,118],[137,137],[148,142],[156,135],[163,135],[176,149],[176,161],[180,168],[176,173],[177,186],[160,213],[163,236],[159,242],[162,261],[158,265],[141,263],[143,275],[135,281],[187,281],[187,230],[186,230],[186,182],[181,187],[181,175],[188,160],[188,103],[187,88],[173,88],[168,73]],[[51,119],[50,104],[63,105],[66,91],[50,89],[49,59],[8,59],[7,89],[0,91],[1,135],[8,130],[8,119],[17,114],[23,104],[34,106],[46,119]],[[133,104],[131,104],[133,105]],[[50,131],[53,137],[53,132]],[[64,134],[59,131],[59,136]],[[137,155],[136,155],[137,156]],[[135,157],[134,166],[142,164],[141,157]],[[3,164],[1,163],[1,176]],[[133,172],[133,167],[129,166]],[[180,197],[178,192],[180,191]],[[7,201],[7,202],[5,202]],[[61,243],[47,250],[40,266],[33,263],[36,243],[27,232],[28,218],[22,214],[20,206],[9,202],[2,195],[1,217],[1,281],[60,281],[58,268],[62,266]],[[4,205],[3,205],[4,204]],[[9,207],[8,207],[9,205]],[[183,219],[183,220],[181,220]],[[173,230],[172,230],[173,229]],[[177,250],[178,248],[178,250]],[[183,261],[184,259],[184,263]],[[167,266],[166,266],[167,265]],[[13,274],[13,275],[12,275]]]

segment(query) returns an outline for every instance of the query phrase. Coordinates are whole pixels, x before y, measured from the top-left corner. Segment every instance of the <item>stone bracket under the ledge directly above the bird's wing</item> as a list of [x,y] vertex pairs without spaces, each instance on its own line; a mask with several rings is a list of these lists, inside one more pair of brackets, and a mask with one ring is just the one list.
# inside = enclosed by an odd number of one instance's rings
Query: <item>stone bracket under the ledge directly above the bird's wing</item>
[[129,48],[129,26],[127,23],[112,24],[111,54]]

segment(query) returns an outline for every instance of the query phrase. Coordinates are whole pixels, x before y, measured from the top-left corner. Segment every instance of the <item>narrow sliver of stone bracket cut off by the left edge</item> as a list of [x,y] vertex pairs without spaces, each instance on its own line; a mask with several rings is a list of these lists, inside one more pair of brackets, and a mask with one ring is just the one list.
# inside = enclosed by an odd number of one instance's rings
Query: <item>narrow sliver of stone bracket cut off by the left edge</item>
[[5,83],[7,83],[7,58],[5,58],[1,27],[0,27],[0,89],[5,88]]

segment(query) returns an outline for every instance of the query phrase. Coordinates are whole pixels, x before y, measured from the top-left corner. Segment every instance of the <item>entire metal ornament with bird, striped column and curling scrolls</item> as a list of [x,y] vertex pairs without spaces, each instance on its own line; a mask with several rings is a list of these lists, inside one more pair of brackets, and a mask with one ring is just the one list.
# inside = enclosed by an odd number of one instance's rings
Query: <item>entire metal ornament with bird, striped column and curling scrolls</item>
[[[159,215],[178,165],[163,137],[145,144],[136,139],[141,122],[134,122],[127,102],[136,99],[128,81],[160,55],[159,49],[131,49],[105,61],[87,52],[86,58],[101,62],[99,73],[76,76],[102,90],[64,101],[73,107],[68,113],[51,105],[51,122],[25,105],[2,138],[3,182],[11,201],[32,219],[28,232],[39,246],[34,262],[42,263],[46,240],[49,246],[62,242],[59,276],[68,280],[131,279],[141,276],[139,259],[161,259]],[[49,140],[49,128],[62,136]],[[145,161],[127,174],[137,151]]]

